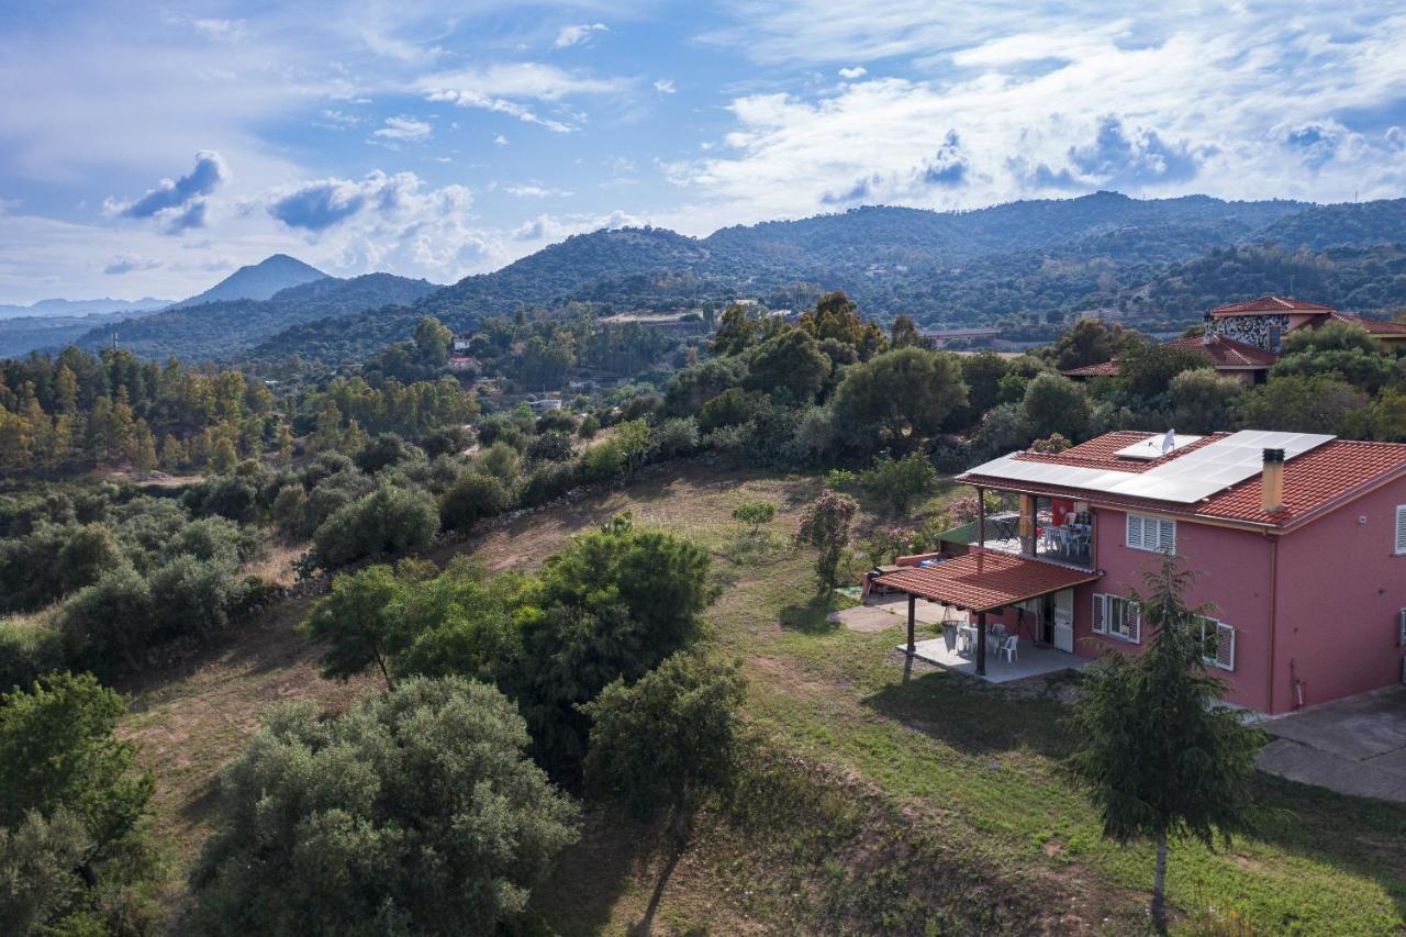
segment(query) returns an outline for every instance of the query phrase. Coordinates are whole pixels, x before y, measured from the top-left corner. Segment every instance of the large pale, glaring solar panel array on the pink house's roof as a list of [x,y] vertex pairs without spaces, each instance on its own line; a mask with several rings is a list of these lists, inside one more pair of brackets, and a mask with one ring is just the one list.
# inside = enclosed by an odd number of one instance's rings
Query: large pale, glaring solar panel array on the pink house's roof
[[1264,449],[1282,449],[1289,460],[1333,439],[1323,433],[1243,429],[1143,473],[1029,461],[1012,453],[972,468],[972,474],[1194,504],[1260,471]]

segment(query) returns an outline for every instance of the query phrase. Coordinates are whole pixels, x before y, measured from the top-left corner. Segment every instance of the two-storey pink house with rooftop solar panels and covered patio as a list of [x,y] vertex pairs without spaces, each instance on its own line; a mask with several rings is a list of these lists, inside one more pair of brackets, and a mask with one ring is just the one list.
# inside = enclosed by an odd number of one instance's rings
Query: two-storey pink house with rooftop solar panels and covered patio
[[[981,497],[939,553],[872,574],[908,597],[910,654],[1024,675],[1136,653],[1129,597],[1174,553],[1197,573],[1189,604],[1215,606],[1205,660],[1230,702],[1284,713],[1406,681],[1406,445],[1115,432],[960,480],[1014,509]],[[914,640],[918,599],[949,609],[943,639]]]

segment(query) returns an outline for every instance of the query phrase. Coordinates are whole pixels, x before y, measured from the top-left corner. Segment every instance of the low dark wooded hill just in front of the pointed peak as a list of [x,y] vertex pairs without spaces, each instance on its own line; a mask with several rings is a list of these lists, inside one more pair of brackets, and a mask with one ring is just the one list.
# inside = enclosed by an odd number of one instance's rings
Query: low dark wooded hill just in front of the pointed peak
[[290,325],[328,317],[347,317],[384,305],[405,305],[439,287],[389,273],[370,273],[350,280],[322,277],[281,290],[270,300],[233,300],[179,307],[93,329],[76,345],[97,350],[117,335],[120,348],[139,357],[228,360]]

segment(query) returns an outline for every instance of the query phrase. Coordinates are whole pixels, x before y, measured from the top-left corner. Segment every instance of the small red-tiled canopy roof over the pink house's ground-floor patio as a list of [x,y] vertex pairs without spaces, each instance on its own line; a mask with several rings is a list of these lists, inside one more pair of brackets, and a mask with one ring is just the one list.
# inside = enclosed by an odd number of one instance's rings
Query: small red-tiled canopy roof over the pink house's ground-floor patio
[[875,580],[879,585],[973,612],[1092,582],[1098,573],[1031,560],[1011,553],[973,550],[936,566],[905,567]]

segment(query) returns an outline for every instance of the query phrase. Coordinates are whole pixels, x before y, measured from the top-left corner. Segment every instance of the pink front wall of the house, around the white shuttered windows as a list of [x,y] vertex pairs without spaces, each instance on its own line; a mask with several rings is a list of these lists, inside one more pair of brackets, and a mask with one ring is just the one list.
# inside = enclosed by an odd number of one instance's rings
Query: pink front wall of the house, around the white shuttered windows
[[[1105,646],[1136,653],[1146,646],[1094,633],[1094,594],[1146,592],[1142,575],[1156,570],[1160,554],[1126,546],[1126,515],[1094,508],[1094,566],[1104,577],[1074,592],[1074,653],[1097,657]],[[1270,661],[1270,543],[1260,533],[1177,519],[1177,553],[1198,575],[1188,605],[1213,604],[1215,618],[1236,629],[1233,671],[1213,670],[1229,687],[1229,699],[1241,706],[1268,705]]]

